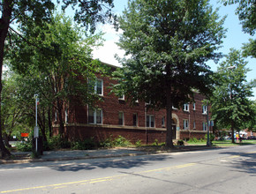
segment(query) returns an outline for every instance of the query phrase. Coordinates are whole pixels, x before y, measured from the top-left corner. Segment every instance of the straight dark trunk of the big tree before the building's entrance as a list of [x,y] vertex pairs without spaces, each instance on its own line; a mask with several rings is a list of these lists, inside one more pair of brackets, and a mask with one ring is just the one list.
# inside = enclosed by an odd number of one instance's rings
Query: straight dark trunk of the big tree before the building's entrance
[[166,146],[173,147],[172,142],[172,103],[171,103],[171,81],[170,66],[166,65]]

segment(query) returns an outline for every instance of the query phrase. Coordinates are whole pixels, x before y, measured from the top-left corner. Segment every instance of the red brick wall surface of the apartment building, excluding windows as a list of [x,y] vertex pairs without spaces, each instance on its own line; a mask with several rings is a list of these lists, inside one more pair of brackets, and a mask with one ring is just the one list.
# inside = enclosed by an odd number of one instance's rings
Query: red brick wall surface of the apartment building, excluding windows
[[[146,137],[148,143],[153,143],[154,139],[158,139],[158,142],[164,142],[166,132],[162,129],[162,117],[166,118],[165,109],[159,111],[147,110],[147,115],[154,115],[155,128],[147,128],[147,136],[145,130],[145,102],[139,101],[139,103],[131,106],[131,104],[126,101],[118,100],[118,97],[114,93],[110,93],[110,84],[115,83],[112,79],[108,77],[100,77],[103,80],[103,96],[101,102],[98,103],[98,107],[102,108],[102,126],[94,127],[94,125],[87,125],[87,106],[70,106],[69,108],[69,124],[66,124],[65,133],[70,139],[75,138],[90,138],[94,137],[97,140],[103,140],[109,138],[112,135],[114,138],[118,135],[124,138],[130,139],[133,143],[137,140],[141,140],[146,143]],[[199,93],[194,93],[194,100],[196,103],[196,108],[193,110],[192,103],[189,106],[189,111],[184,111],[183,108],[173,109],[173,114],[176,114],[179,120],[179,131],[180,139],[184,138],[204,138],[202,123],[207,122],[207,116],[202,114],[202,100],[203,96]],[[209,108],[208,108],[209,109]],[[124,112],[124,126],[118,128],[118,113],[120,111]],[[138,116],[138,128],[132,127],[133,114]],[[183,131],[184,129],[184,119],[189,120],[189,131]],[[166,122],[166,119],[165,119]],[[196,123],[196,128],[193,129],[193,122]],[[54,123],[57,124],[57,123]],[[77,125],[76,127],[71,125]],[[176,123],[177,124],[177,123]],[[81,125],[84,125],[83,127]],[[108,125],[108,127],[105,127]],[[114,126],[112,129],[110,126]],[[178,127],[178,126],[177,126]],[[143,128],[143,129],[141,129]],[[178,130],[178,129],[177,129]],[[55,128],[55,132],[57,129]]]

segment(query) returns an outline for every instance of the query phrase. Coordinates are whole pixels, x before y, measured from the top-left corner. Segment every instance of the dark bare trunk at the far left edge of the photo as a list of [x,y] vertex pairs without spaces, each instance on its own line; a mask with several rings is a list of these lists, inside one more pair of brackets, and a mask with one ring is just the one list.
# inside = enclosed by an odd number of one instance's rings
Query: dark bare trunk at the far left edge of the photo
[[[3,10],[2,10],[2,18],[0,19],[0,123],[2,123],[2,113],[1,113],[1,93],[2,93],[2,73],[3,73],[3,64],[4,64],[4,41],[6,39],[10,19],[11,19],[11,11],[12,11],[12,1],[4,0],[2,1]],[[0,124],[0,158],[10,157],[11,153],[4,146],[3,141],[3,126]]]

